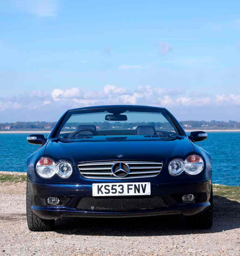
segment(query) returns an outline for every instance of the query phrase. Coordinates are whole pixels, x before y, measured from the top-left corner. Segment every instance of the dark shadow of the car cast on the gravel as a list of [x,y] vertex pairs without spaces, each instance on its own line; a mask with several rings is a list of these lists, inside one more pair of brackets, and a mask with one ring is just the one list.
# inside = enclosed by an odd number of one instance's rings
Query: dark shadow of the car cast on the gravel
[[240,227],[240,203],[213,196],[211,229],[189,229],[180,215],[137,218],[60,218],[55,232],[75,235],[156,236],[174,234],[216,233]]

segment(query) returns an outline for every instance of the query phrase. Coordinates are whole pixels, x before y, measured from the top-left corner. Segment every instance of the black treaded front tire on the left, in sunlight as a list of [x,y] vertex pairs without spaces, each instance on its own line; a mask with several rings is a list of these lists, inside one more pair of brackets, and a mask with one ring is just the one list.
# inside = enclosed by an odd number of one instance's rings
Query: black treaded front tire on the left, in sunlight
[[51,231],[54,230],[55,220],[54,219],[40,219],[34,215],[31,211],[31,201],[29,196],[28,181],[27,181],[27,192],[26,192],[26,206],[27,206],[27,226],[30,231]]

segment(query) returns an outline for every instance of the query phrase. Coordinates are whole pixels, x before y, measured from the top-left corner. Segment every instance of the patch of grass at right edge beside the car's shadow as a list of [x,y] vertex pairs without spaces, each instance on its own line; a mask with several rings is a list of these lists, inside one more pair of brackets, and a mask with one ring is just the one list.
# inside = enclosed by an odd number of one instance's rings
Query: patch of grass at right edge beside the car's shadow
[[231,187],[224,185],[213,185],[213,195],[224,196],[228,199],[240,201],[240,186]]

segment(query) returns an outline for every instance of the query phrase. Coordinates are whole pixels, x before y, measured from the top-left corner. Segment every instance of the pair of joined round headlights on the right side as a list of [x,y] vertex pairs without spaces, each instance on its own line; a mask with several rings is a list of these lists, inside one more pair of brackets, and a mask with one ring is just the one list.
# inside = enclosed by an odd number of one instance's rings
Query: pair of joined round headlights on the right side
[[203,159],[197,155],[189,156],[185,161],[174,159],[168,165],[168,171],[171,175],[180,175],[183,171],[190,175],[199,174],[204,167]]

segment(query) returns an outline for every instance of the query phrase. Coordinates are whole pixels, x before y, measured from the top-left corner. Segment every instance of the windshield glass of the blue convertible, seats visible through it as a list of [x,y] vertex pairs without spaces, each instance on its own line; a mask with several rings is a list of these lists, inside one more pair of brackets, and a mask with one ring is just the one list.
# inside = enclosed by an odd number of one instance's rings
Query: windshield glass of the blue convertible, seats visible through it
[[69,111],[60,129],[60,137],[99,135],[179,135],[165,110],[153,112],[120,110]]

